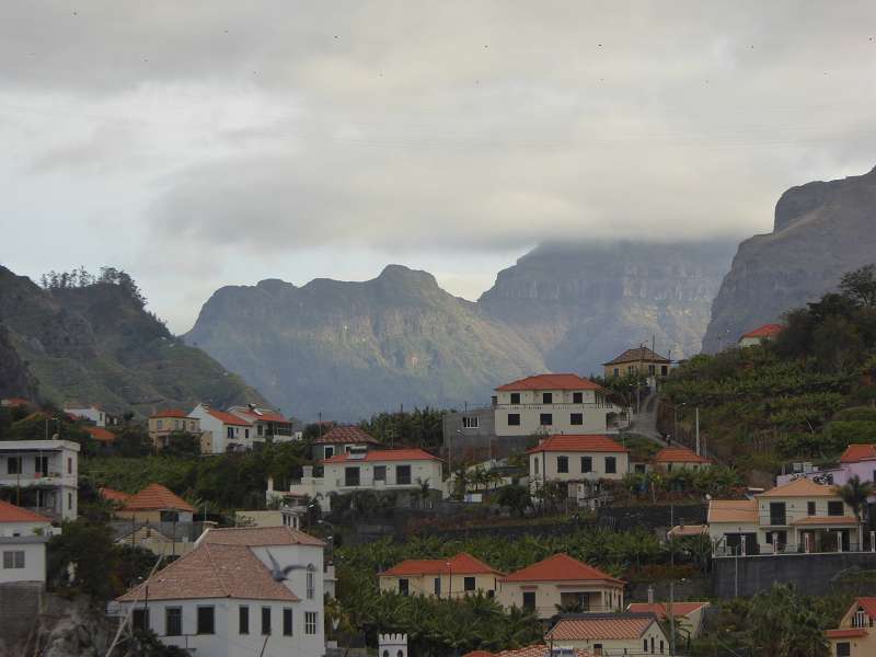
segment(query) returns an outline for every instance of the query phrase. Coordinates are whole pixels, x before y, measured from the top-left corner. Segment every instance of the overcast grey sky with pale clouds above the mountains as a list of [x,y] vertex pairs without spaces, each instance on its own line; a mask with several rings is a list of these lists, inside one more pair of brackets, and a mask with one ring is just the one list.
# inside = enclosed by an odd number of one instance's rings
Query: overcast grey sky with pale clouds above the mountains
[[876,3],[0,2],[0,263],[470,299],[553,239],[747,237],[876,164]]

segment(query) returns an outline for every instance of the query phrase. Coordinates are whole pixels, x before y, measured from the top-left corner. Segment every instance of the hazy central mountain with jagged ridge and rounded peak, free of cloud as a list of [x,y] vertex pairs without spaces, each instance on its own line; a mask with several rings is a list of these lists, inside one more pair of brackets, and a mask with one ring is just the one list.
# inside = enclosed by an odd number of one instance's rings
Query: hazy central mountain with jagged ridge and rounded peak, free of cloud
[[399,265],[365,283],[224,287],[185,338],[307,418],[486,402],[497,384],[544,369],[514,331]]

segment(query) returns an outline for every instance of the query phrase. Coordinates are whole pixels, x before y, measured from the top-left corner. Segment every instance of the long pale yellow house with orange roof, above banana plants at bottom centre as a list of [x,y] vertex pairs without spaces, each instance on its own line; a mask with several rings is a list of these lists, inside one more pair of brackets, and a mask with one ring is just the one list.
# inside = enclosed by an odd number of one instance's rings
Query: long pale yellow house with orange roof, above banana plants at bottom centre
[[403,596],[460,598],[481,591],[496,595],[499,573],[471,554],[460,553],[450,558],[408,558],[378,578],[380,590]]

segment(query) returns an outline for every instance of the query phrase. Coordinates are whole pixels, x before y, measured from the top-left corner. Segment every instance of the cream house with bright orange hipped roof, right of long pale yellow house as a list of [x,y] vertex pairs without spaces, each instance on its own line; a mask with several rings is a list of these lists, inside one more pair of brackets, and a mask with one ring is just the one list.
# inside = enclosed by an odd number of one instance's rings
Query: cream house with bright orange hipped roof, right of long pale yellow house
[[624,583],[568,554],[554,554],[498,580],[498,602],[506,609],[533,610],[550,619],[558,608],[621,611]]

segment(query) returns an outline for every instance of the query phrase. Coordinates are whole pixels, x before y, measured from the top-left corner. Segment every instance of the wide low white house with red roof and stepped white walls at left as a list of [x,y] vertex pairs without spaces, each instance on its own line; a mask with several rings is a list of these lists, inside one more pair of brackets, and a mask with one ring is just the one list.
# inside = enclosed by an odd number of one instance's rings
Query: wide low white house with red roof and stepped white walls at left
[[426,485],[443,494],[442,461],[422,449],[384,449],[367,451],[360,447],[320,461],[322,476],[313,475],[313,466],[304,465],[303,476],[292,482],[289,491],[268,488],[267,499],[307,495],[319,502],[323,511],[332,509],[332,494],[355,491],[415,491]]

